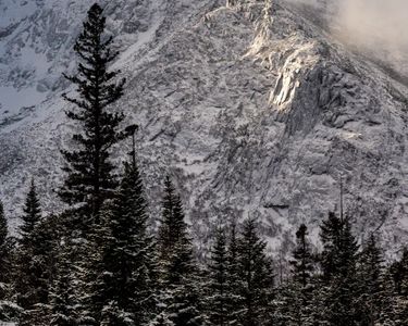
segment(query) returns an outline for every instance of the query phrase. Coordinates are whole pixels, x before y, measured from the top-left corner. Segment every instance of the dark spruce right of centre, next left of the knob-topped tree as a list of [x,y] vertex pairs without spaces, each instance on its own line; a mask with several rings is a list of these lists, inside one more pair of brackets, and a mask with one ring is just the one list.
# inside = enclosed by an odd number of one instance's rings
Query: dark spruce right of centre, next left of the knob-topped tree
[[238,239],[238,281],[243,298],[238,325],[262,325],[268,315],[273,272],[265,247],[257,234],[255,220],[245,221]]

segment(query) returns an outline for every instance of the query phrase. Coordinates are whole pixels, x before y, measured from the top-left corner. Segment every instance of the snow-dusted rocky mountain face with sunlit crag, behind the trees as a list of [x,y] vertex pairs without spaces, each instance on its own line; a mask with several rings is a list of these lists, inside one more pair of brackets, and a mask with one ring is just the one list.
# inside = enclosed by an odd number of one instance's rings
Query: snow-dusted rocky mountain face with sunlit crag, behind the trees
[[[17,222],[32,175],[44,205],[58,206],[58,150],[75,128],[63,114],[60,95],[70,86],[60,75],[75,66],[70,49],[91,1],[3,2],[0,14],[15,12],[15,18],[0,26],[0,180]],[[317,239],[321,220],[338,204],[343,178],[356,231],[362,239],[381,233],[395,254],[408,240],[404,78],[349,52],[302,8],[223,4],[107,2],[109,30],[122,51],[115,67],[128,79],[118,106],[140,126],[151,214],[170,173],[198,248],[214,225],[251,216],[271,250],[287,251],[302,222]],[[46,59],[27,61],[30,51]],[[127,143],[118,149],[118,162],[127,150]]]

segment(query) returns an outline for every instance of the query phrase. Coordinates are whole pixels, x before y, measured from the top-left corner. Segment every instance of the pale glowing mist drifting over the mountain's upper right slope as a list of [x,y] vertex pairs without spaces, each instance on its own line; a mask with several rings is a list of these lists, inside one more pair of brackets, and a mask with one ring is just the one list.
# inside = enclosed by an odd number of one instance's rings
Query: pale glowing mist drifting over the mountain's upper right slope
[[[408,0],[286,0],[330,11],[333,36],[408,72]],[[334,16],[333,16],[334,15]],[[403,67],[404,68],[404,67]]]

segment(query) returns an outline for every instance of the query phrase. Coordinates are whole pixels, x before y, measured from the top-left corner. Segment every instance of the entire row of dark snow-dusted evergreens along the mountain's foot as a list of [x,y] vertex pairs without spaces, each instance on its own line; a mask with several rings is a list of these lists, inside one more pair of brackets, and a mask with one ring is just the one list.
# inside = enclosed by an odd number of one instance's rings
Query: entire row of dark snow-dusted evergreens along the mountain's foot
[[[126,80],[98,4],[88,11],[74,50],[77,73],[64,95],[77,126],[65,159],[62,213],[45,215],[33,180],[18,237],[8,235],[0,205],[0,319],[59,326],[405,326],[408,249],[386,264],[375,234],[359,244],[350,217],[330,213],[321,251],[308,228],[296,231],[290,273],[275,280],[274,261],[257,221],[213,230],[209,258],[198,261],[172,179],[163,180],[160,226],[150,216],[137,164],[137,125],[112,104]],[[112,152],[133,140],[122,168]],[[120,171],[120,173],[118,172]]]

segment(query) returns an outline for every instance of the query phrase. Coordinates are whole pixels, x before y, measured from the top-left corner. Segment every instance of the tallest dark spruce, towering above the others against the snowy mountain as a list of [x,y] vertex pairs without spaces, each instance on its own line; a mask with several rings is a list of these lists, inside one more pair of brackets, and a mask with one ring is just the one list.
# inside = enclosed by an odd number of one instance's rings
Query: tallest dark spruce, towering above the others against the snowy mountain
[[81,59],[77,73],[65,75],[76,85],[78,98],[63,96],[76,106],[66,115],[78,123],[81,130],[72,136],[76,149],[62,151],[67,176],[60,196],[70,204],[84,205],[85,213],[92,216],[98,215],[106,199],[113,197],[118,180],[110,160],[112,147],[125,136],[119,130],[124,115],[112,111],[125,80],[115,83],[119,72],[109,71],[118,52],[112,50],[112,37],[106,37],[104,29],[106,17],[95,3],[74,47]]

